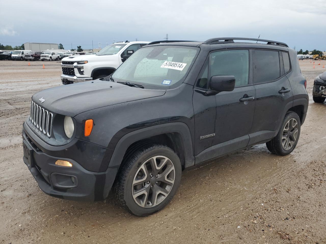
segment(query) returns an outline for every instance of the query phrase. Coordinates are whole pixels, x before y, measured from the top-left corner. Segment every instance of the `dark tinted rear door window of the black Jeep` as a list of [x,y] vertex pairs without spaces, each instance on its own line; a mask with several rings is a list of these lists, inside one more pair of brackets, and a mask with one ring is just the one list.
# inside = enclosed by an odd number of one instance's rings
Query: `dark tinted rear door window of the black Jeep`
[[280,77],[280,59],[278,51],[253,50],[253,82],[272,81]]

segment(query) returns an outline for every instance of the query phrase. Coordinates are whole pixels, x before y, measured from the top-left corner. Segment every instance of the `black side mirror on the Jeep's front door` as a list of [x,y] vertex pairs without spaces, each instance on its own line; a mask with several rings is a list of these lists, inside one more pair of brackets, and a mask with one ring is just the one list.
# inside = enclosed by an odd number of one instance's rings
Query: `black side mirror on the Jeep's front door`
[[211,77],[209,90],[206,95],[215,95],[222,91],[233,91],[235,86],[235,77],[233,75],[215,75]]

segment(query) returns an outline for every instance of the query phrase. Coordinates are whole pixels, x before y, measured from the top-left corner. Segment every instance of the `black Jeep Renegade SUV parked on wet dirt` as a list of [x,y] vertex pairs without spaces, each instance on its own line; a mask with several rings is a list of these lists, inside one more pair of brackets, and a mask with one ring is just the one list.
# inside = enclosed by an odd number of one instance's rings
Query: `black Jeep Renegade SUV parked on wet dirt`
[[291,153],[305,84],[284,43],[152,42],[111,76],[34,94],[23,160],[48,195],[98,201],[113,188],[123,208],[152,214],[185,168],[265,142]]

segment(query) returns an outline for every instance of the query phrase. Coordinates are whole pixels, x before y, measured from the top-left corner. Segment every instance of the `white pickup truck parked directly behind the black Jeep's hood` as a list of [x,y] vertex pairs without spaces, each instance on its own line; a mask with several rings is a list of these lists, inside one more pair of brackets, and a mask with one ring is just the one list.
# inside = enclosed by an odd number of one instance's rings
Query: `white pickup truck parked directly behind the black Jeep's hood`
[[90,81],[111,75],[138,48],[149,42],[118,42],[104,47],[95,55],[62,59],[62,84]]

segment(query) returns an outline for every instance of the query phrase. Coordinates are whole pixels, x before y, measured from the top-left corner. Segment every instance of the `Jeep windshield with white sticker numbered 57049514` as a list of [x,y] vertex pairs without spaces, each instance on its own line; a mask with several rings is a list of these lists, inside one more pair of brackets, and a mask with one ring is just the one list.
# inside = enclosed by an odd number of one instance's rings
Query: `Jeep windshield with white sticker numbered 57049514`
[[198,47],[143,47],[113,73],[115,82],[141,84],[148,89],[171,89],[180,85],[199,52]]

